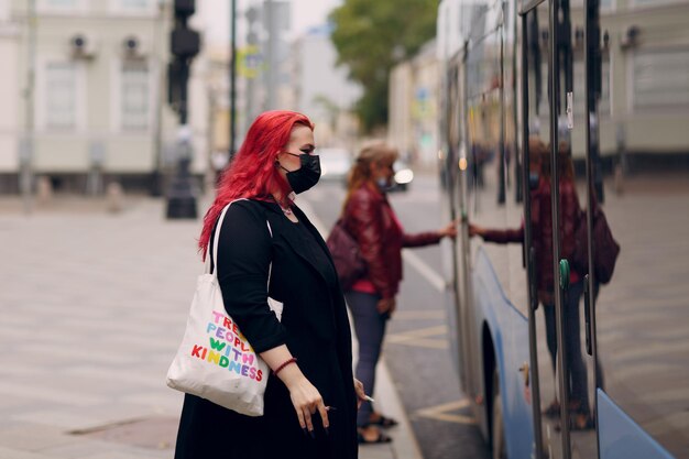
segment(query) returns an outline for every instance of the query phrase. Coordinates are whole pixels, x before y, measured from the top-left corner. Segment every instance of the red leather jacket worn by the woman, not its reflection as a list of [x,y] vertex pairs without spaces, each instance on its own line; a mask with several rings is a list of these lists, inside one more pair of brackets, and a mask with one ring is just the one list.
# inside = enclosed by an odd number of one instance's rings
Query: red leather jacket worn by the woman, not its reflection
[[400,289],[402,248],[429,245],[441,239],[437,231],[406,234],[387,197],[370,184],[352,192],[343,219],[367,262],[367,278],[383,298],[394,297]]

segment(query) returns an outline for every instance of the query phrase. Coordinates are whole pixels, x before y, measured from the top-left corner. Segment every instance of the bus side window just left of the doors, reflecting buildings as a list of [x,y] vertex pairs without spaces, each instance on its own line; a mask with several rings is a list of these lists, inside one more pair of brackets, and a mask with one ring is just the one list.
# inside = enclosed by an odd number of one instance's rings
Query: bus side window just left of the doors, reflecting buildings
[[[510,2],[505,8],[516,8]],[[472,21],[472,35],[466,59],[467,86],[467,177],[469,221],[482,228],[516,229],[523,209],[514,190],[516,179],[516,95],[514,24],[496,22],[502,18],[496,3]],[[497,10],[495,10],[497,9]],[[515,15],[506,14],[514,20]],[[481,22],[483,21],[483,22]],[[492,22],[491,22],[492,21]],[[500,24],[500,26],[496,26]],[[513,242],[521,242],[513,241]],[[472,240],[473,254],[479,239]],[[524,255],[521,243],[480,244],[493,261],[492,272],[510,303],[527,315]]]

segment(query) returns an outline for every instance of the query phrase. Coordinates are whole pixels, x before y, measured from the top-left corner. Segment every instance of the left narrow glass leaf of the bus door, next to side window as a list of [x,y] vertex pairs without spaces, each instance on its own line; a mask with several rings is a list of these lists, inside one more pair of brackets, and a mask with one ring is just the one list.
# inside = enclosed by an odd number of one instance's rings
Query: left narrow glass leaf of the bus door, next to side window
[[539,164],[550,136],[548,77],[550,75],[549,2],[531,1],[521,11],[521,140],[523,151],[524,258],[528,280],[529,364],[522,372],[528,378],[534,418],[534,457],[564,457],[562,441],[547,409],[557,400],[555,354],[550,352],[553,329],[546,328],[546,317],[555,310],[553,295],[544,288],[544,219],[549,216],[549,201],[544,199],[550,178],[540,173]]

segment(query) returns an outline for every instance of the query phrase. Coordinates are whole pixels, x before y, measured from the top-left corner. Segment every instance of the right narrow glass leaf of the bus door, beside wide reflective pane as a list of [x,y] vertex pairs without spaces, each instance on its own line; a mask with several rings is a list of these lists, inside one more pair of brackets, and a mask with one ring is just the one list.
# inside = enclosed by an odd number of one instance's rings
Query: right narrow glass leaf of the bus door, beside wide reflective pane
[[589,275],[589,209],[594,189],[592,171],[600,171],[591,121],[597,120],[602,61],[600,29],[593,14],[599,1],[571,3],[554,0],[550,21],[555,97],[550,102],[550,161],[544,163],[545,173],[549,167],[553,177],[556,314],[550,326],[557,331],[558,359],[561,359],[558,361],[560,416],[556,419],[562,447],[569,449],[566,457],[595,458],[597,356],[591,334],[591,302],[598,289]]

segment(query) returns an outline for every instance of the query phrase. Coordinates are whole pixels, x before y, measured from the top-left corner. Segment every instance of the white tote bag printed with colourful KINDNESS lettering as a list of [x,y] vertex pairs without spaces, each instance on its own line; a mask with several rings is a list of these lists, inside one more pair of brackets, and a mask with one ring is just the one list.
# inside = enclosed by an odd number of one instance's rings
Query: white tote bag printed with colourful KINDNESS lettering
[[[222,209],[216,227],[212,244],[212,262],[216,269],[212,274],[209,253],[206,252],[206,269],[198,276],[184,339],[167,370],[167,385],[243,415],[262,416],[263,393],[270,368],[251,348],[234,320],[228,316],[218,283],[220,229],[232,203]],[[272,237],[267,220],[266,225]],[[269,285],[271,271],[272,263],[269,269]],[[280,320],[282,303],[269,298],[269,306]]]

